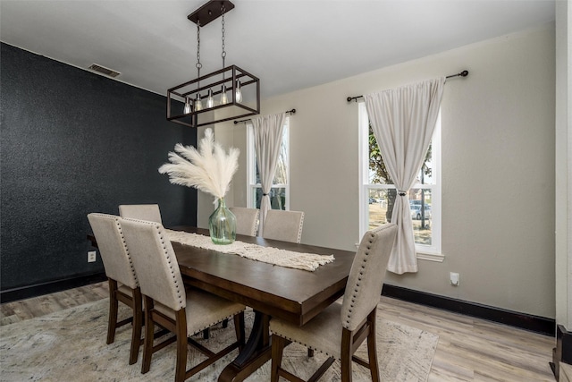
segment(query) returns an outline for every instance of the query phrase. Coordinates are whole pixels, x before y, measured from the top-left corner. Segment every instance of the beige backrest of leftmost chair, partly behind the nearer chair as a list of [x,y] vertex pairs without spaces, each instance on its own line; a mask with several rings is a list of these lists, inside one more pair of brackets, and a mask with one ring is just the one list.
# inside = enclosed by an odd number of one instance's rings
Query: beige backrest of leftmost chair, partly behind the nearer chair
[[88,214],[89,225],[96,236],[99,254],[104,262],[105,275],[135,289],[139,286],[130,252],[123,241],[120,217],[107,214]]

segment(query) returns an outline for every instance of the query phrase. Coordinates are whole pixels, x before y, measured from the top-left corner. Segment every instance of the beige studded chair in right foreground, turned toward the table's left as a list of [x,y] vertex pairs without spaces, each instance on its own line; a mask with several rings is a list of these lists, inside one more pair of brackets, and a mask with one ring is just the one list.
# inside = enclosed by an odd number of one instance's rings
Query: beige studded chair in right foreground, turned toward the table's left
[[[335,359],[341,360],[341,381],[351,381],[351,361],[370,369],[372,380],[379,381],[375,349],[375,310],[382,293],[385,268],[395,242],[397,225],[382,225],[366,232],[349,272],[343,302],[334,302],[323,312],[299,327],[278,318],[270,320],[272,331],[271,381],[279,377],[300,379],[282,369],[282,352],[290,342],[303,344],[330,357],[310,380],[320,378]],[[354,355],[367,339],[368,361]]]

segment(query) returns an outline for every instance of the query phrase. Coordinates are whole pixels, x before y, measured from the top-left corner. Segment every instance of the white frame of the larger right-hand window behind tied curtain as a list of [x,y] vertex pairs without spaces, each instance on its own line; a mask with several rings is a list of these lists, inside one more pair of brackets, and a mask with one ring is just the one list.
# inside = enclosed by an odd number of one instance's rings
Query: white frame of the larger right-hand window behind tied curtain
[[[359,236],[362,237],[369,227],[369,190],[395,189],[392,184],[373,184],[369,182],[369,117],[366,104],[358,102],[359,132]],[[442,262],[442,163],[441,163],[441,112],[433,132],[432,162],[434,166],[433,184],[415,183],[411,189],[431,190],[431,245],[415,244],[417,259]]]

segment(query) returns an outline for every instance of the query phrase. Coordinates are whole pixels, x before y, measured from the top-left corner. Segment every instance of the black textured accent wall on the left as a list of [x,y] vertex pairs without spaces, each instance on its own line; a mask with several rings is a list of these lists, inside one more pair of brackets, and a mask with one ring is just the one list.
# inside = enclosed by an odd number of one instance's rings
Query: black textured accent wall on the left
[[[104,272],[87,214],[158,203],[164,225],[197,224],[197,191],[157,172],[197,131],[165,98],[2,44],[0,290]],[[149,73],[152,75],[153,73]],[[168,84],[165,84],[165,86]]]

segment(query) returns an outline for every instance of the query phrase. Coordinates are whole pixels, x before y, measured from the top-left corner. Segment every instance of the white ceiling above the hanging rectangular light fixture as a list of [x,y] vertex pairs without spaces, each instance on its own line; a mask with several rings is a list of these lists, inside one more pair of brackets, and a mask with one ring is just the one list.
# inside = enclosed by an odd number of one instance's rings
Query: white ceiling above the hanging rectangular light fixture
[[[166,94],[166,89],[197,77],[197,27],[187,15],[205,3],[0,0],[0,39],[83,69],[99,64],[121,72],[117,81]],[[233,4],[225,16],[226,64],[259,77],[262,98],[555,19],[554,0],[234,0]],[[201,74],[222,68],[221,19],[201,28],[200,38]]]

